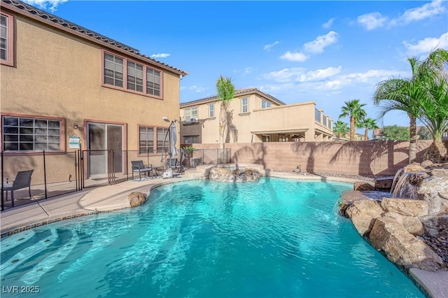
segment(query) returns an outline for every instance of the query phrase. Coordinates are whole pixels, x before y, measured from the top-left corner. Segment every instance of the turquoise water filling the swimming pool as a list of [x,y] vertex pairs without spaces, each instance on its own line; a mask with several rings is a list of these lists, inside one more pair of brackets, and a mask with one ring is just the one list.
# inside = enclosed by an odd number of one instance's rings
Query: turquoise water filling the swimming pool
[[158,187],[139,208],[2,239],[1,296],[423,297],[337,216],[350,188],[279,178]]

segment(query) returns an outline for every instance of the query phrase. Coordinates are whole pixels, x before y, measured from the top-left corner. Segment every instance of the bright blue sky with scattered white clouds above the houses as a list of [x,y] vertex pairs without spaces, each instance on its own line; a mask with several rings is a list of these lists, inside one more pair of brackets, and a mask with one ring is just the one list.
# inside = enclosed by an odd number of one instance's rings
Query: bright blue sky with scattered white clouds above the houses
[[407,57],[448,49],[447,1],[27,2],[187,71],[181,102],[215,95],[222,74],[286,104],[315,101],[335,121],[351,99],[377,118],[377,83],[408,78]]

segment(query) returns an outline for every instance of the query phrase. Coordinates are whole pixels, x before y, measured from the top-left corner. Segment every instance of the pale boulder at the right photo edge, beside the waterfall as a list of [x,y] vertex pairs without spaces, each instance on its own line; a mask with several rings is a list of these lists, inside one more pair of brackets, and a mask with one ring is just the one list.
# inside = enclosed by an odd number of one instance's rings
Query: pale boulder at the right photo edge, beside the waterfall
[[428,202],[429,213],[447,212],[448,176],[431,176],[421,183],[417,190],[419,199]]

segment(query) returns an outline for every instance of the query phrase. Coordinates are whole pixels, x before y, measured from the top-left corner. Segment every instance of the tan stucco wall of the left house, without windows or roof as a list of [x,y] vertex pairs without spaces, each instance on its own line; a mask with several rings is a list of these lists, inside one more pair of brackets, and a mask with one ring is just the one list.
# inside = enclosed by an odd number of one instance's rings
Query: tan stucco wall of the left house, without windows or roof
[[[80,136],[86,149],[87,120],[125,125],[124,149],[138,150],[138,125],[168,127],[162,116],[179,119],[178,73],[162,70],[163,100],[102,87],[100,45],[11,14],[15,18],[15,66],[1,65],[1,114],[63,118],[68,152],[74,150],[68,146],[72,135]],[[73,129],[74,123],[80,129]],[[178,140],[178,148],[179,144]],[[153,160],[160,163],[160,155]]]

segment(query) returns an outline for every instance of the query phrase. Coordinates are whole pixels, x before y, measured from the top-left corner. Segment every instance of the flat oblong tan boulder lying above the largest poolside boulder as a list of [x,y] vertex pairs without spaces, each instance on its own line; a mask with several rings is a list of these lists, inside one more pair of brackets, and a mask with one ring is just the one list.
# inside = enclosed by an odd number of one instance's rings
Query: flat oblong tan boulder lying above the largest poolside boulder
[[405,216],[425,216],[429,212],[429,206],[426,201],[415,199],[384,198],[381,201],[381,207],[386,211],[396,212]]

